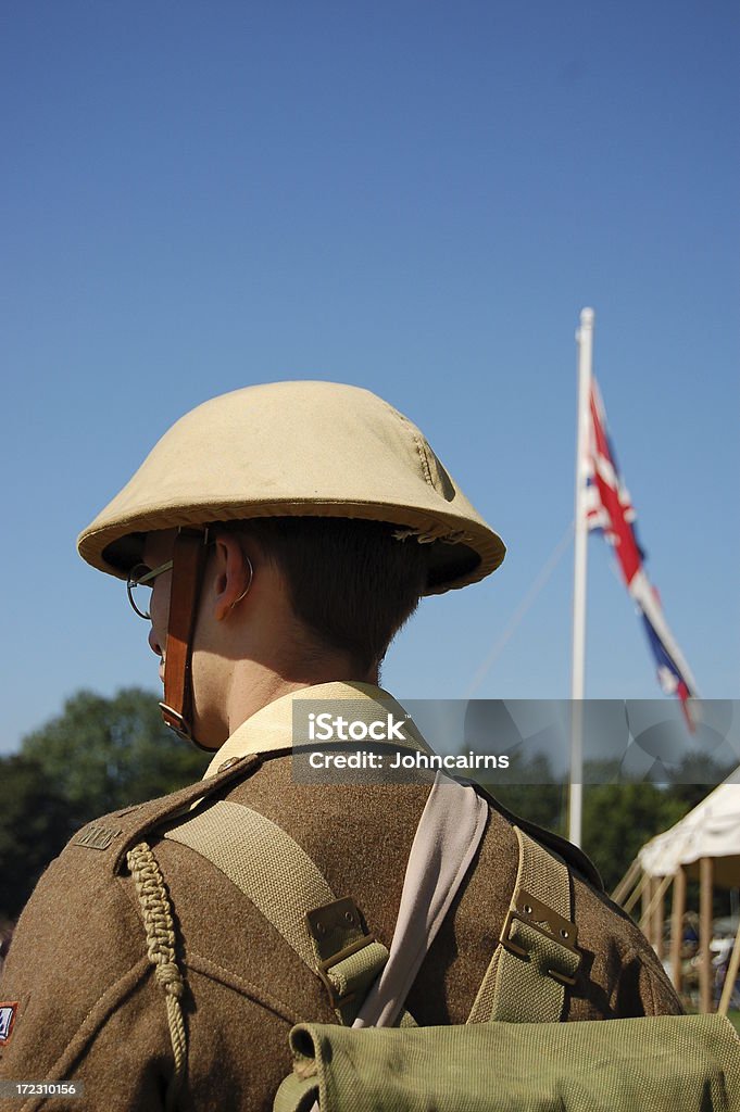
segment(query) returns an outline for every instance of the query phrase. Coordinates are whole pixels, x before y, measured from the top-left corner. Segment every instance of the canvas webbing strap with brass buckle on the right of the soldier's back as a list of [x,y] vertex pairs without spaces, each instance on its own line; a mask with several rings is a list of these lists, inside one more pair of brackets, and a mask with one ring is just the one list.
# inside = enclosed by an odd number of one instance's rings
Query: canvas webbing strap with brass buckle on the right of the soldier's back
[[581,963],[568,867],[517,826],[519,872],[468,1023],[556,1023]]

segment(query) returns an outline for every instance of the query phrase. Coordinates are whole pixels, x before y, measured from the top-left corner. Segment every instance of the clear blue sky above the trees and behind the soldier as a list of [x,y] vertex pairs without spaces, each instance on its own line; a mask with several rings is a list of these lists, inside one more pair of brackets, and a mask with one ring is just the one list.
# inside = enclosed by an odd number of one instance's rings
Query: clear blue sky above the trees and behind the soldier
[[[572,519],[573,332],[702,693],[738,697],[733,2],[7,4],[3,729],[156,691],[75,538],[182,413],[280,378],[405,411],[509,556],[426,602],[399,697],[464,694]],[[572,549],[481,684],[561,697]],[[586,693],[654,697],[590,542]]]

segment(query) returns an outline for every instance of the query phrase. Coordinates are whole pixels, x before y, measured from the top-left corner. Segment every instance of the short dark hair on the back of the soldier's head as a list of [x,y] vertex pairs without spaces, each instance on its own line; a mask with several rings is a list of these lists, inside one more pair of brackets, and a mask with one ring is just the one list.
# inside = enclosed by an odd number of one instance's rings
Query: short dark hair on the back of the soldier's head
[[[231,523],[234,528],[234,523]],[[293,612],[318,646],[362,673],[383,661],[427,582],[424,546],[397,525],[343,517],[260,517],[238,523],[283,573]]]

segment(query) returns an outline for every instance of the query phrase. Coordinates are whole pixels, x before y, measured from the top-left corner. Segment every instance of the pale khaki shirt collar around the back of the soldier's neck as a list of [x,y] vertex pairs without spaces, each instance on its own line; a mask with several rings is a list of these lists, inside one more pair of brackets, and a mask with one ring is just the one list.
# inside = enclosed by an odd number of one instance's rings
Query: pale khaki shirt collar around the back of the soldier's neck
[[227,762],[251,753],[274,753],[293,748],[293,704],[295,699],[357,701],[358,715],[364,719],[393,714],[404,721],[405,744],[411,748],[430,751],[418,729],[399,703],[392,695],[374,684],[334,682],[300,687],[268,703],[243,722],[221,745],[208,765],[204,780],[223,772]]

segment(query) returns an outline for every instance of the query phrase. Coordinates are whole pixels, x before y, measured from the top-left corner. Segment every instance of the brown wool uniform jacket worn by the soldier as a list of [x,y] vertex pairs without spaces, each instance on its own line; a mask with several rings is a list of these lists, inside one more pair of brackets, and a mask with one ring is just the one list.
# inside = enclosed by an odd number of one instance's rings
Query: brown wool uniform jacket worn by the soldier
[[[231,881],[158,828],[198,798],[199,807],[216,800],[253,807],[303,846],[337,895],[355,898],[371,932],[389,946],[428,794],[423,784],[296,783],[288,721],[276,723],[269,707],[259,712],[229,738],[204,782],[98,820],[47,870],[0,979],[0,1002],[18,1005],[10,1037],[0,1043],[0,1079],[77,1080],[85,1095],[0,1100],[0,1108],[165,1108],[174,1072],[167,999],[127,867],[127,851],[145,841],[169,894],[185,982],[187,1068],[177,1106],[272,1109],[290,1070],[290,1027],[302,1020],[336,1022],[326,989]],[[256,755],[255,747],[268,752]],[[408,996],[420,1024],[465,1022],[502,931],[516,864],[512,824],[492,807],[480,851]],[[573,897],[583,960],[564,1019],[680,1013],[632,921],[578,874]]]

